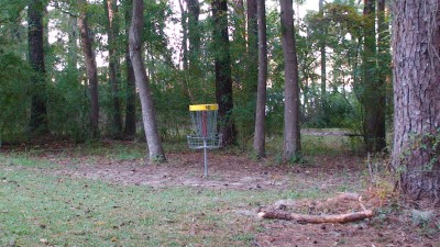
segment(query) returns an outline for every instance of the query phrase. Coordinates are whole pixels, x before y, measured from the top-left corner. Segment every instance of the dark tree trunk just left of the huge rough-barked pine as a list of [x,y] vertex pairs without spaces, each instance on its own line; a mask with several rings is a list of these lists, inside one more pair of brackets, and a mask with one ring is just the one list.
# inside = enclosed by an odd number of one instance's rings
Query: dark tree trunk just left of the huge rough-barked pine
[[364,0],[364,52],[362,103],[365,108],[364,141],[367,151],[382,151],[385,146],[385,88],[377,77],[375,0]]

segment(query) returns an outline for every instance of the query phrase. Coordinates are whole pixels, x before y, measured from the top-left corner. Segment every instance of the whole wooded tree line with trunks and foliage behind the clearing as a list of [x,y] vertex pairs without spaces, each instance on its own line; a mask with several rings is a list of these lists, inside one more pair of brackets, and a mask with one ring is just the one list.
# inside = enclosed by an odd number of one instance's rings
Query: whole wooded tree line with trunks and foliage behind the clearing
[[217,102],[223,144],[264,157],[265,136],[283,135],[285,161],[300,158],[300,126],[348,128],[370,153],[394,130],[400,184],[439,200],[438,1],[320,0],[304,18],[298,4],[0,0],[0,136],[143,136],[165,160],[188,104]]

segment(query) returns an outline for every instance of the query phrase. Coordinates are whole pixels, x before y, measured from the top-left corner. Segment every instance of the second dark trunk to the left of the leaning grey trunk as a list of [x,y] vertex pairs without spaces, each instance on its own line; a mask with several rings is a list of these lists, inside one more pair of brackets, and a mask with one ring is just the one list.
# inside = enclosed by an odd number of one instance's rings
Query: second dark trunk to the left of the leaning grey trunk
[[118,5],[117,0],[106,0],[105,9],[107,14],[107,36],[109,46],[109,80],[111,85],[113,109],[111,112],[111,134],[116,137],[120,137],[122,134],[122,116],[121,116],[121,104],[119,100],[119,56],[117,53],[117,35],[119,34],[118,26]]

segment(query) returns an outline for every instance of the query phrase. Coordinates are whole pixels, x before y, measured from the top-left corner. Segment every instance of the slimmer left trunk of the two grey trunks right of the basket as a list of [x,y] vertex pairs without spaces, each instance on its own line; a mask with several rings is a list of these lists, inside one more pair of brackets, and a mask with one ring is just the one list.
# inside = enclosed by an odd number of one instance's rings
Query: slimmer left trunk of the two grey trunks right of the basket
[[266,113],[267,42],[265,0],[257,1],[258,18],[258,88],[256,96],[254,151],[258,158],[265,156],[264,121]]

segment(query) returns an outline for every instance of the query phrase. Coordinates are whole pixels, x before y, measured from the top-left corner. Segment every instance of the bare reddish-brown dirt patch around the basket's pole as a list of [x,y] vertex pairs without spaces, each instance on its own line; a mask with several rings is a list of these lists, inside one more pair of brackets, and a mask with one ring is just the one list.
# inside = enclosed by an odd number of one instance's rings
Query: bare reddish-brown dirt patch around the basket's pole
[[[47,158],[47,156],[45,157]],[[123,184],[163,187],[204,187],[231,189],[286,189],[292,179],[285,170],[251,162],[245,158],[211,155],[209,176],[204,177],[199,154],[168,154],[168,162],[145,165],[145,160],[114,160],[97,157],[72,164],[72,158],[53,157],[63,166],[55,172],[69,177],[102,179]]]

